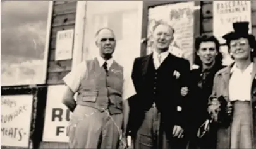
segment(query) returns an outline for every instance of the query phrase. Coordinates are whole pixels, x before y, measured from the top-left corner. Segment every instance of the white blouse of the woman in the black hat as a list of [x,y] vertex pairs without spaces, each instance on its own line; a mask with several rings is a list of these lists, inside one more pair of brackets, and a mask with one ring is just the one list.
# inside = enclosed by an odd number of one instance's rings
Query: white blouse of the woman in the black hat
[[229,99],[230,101],[250,101],[251,100],[251,75],[253,63],[241,72],[236,64],[231,68],[231,78],[229,80]]

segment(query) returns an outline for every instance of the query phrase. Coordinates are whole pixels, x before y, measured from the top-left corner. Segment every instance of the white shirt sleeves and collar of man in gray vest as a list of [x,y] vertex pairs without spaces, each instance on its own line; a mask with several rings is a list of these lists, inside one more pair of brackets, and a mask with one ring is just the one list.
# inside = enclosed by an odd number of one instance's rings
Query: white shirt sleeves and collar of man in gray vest
[[[99,61],[99,65],[102,67],[105,60],[102,57],[97,57],[97,60]],[[107,62],[107,69],[111,67],[112,63],[114,62],[113,58],[106,61]],[[133,81],[131,79],[131,73],[127,72],[125,68],[123,68],[123,93],[122,98],[123,100],[128,99],[129,97],[136,94],[135,87],[133,85]],[[70,89],[75,93],[78,91],[80,87],[80,83],[82,79],[84,78],[85,74],[87,72],[87,65],[86,62],[83,61],[76,67],[75,70],[71,70],[70,73],[68,73],[64,78],[64,82],[66,86],[70,87]]]

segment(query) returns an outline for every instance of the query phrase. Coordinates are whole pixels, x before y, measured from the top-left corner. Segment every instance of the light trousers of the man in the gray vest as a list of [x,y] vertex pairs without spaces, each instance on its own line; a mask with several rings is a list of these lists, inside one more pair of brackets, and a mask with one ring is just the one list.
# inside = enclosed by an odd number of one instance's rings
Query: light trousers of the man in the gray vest
[[123,114],[77,105],[69,126],[70,148],[118,148]]

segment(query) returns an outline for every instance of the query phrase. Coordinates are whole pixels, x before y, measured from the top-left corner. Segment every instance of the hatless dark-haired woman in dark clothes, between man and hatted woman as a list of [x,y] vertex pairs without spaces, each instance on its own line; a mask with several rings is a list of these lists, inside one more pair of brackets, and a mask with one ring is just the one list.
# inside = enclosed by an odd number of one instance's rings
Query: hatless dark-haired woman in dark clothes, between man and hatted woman
[[[214,148],[216,142],[212,131],[207,137],[198,139],[197,130],[208,118],[208,98],[212,93],[214,74],[222,66],[222,55],[219,52],[219,41],[214,36],[203,35],[195,40],[195,65],[191,72],[190,101],[188,101],[189,148]],[[181,92],[182,93],[182,92]],[[191,106],[196,105],[196,106]]]

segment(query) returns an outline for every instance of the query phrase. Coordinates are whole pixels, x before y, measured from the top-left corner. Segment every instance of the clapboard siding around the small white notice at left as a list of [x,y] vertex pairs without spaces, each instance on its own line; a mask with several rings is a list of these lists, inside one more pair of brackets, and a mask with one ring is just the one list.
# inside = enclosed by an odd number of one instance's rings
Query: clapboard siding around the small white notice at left
[[72,60],[55,61],[58,31],[75,29],[76,1],[54,1],[52,14],[47,84],[63,84],[61,80],[71,70]]

